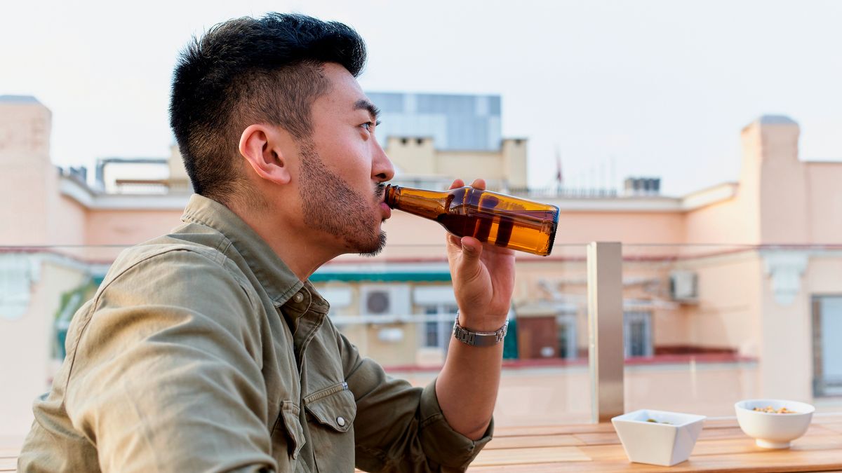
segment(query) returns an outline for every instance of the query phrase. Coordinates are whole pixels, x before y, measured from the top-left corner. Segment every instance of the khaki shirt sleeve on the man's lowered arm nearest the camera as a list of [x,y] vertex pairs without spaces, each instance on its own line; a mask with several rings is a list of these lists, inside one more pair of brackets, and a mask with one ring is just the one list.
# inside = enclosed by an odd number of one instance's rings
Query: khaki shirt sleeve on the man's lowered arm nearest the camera
[[185,250],[144,259],[78,318],[66,409],[103,471],[279,469],[255,311],[221,263]]

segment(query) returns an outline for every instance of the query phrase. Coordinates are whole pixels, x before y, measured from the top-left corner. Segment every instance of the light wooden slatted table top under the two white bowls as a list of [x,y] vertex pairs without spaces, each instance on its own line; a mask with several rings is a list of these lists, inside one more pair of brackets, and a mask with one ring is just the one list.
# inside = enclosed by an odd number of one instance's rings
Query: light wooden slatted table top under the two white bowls
[[498,428],[468,471],[842,471],[842,414],[815,414],[782,450],[755,446],[736,418],[708,419],[690,460],[669,467],[629,462],[610,423]]

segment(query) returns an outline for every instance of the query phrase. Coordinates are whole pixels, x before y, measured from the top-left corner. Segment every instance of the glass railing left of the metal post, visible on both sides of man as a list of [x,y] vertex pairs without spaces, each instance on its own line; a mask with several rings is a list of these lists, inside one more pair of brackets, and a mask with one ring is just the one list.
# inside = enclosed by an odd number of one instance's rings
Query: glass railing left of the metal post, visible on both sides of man
[[[0,379],[11,386],[0,394],[4,432],[29,430],[32,401],[49,390],[66,354],[72,316],[123,249],[0,247]],[[390,244],[376,258],[337,258],[311,279],[361,353],[426,385],[441,369],[456,314],[444,255],[444,245]],[[589,421],[586,282],[584,245],[559,245],[546,258],[518,255],[499,426]]]

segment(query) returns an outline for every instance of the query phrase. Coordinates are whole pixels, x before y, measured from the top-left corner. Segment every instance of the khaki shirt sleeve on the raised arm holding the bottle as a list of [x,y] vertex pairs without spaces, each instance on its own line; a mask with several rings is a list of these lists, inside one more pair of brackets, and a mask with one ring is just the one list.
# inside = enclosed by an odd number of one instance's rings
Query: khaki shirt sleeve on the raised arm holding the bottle
[[479,440],[447,423],[435,395],[435,380],[424,388],[386,375],[380,364],[360,357],[337,332],[345,378],[354,393],[356,466],[367,471],[464,471],[491,440],[493,420]]

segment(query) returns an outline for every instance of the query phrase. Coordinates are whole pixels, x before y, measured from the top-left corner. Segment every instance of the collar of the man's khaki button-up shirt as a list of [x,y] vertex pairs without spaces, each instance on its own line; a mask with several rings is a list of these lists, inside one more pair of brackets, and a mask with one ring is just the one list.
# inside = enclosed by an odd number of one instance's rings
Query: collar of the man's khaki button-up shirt
[[231,241],[275,306],[283,306],[305,285],[251,226],[216,200],[191,195],[181,220],[210,226]]

